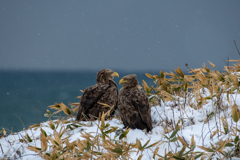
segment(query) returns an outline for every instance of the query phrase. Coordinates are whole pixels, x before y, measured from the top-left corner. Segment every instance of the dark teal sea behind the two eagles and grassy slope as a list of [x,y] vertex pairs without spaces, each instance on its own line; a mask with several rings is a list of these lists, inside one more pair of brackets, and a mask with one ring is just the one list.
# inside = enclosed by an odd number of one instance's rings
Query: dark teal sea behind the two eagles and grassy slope
[[[118,73],[114,78],[118,89],[119,80],[128,74],[136,74],[140,85],[142,80],[154,85],[143,71]],[[69,103],[79,102],[80,90],[95,83],[94,71],[0,71],[0,131],[18,132],[47,121],[46,110],[55,111],[48,106],[63,102],[70,107]]]

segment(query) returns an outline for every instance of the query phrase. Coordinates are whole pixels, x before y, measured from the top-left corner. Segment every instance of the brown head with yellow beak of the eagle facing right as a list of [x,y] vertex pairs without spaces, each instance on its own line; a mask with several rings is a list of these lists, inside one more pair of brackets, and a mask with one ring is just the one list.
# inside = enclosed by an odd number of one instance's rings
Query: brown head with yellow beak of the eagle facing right
[[111,69],[102,69],[97,73],[97,83],[109,83],[114,77],[119,77],[119,74]]

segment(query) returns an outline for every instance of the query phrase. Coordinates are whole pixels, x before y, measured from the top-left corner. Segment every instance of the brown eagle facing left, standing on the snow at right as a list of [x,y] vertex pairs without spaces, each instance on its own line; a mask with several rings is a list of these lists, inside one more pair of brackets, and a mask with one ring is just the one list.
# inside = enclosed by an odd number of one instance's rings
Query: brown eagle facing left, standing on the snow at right
[[137,76],[124,76],[119,84],[118,110],[125,127],[152,130],[151,109],[147,95],[138,88]]

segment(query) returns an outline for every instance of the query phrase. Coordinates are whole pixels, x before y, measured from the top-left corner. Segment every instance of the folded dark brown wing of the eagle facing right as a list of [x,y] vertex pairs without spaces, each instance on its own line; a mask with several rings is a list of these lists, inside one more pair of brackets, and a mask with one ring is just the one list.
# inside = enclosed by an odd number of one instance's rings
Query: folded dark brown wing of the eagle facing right
[[86,114],[88,110],[91,109],[95,103],[97,103],[97,101],[104,93],[106,93],[109,87],[109,84],[102,84],[94,85],[85,89],[80,100],[77,120],[80,120],[82,114]]

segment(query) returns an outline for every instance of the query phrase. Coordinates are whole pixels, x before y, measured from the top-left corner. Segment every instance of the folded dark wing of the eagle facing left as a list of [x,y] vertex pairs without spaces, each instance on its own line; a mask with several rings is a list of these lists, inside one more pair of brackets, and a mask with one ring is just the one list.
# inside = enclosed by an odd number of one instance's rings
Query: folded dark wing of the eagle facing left
[[132,105],[138,111],[142,122],[147,127],[147,130],[150,131],[152,129],[152,120],[150,114],[150,106],[148,102],[147,96],[143,93],[138,95],[138,97],[132,99]]

